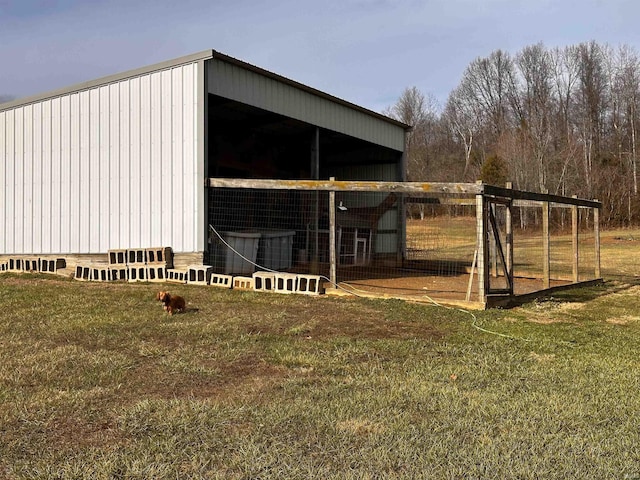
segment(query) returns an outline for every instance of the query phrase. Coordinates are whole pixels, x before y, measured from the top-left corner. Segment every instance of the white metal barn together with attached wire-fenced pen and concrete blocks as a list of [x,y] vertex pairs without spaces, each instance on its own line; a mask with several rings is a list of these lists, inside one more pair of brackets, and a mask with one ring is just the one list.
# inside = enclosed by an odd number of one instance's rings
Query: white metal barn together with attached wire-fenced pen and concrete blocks
[[598,202],[407,183],[409,129],[214,50],[1,104],[0,272],[480,308],[599,280]]

